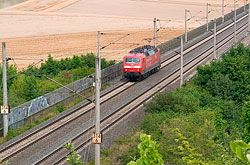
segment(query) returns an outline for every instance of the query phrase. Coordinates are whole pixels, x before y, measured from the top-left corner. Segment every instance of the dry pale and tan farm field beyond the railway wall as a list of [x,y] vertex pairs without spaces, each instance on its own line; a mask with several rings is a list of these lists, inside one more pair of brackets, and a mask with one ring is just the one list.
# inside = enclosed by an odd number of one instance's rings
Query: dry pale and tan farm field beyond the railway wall
[[[189,30],[204,24],[206,3],[209,20],[221,16],[219,0],[28,0],[0,10],[0,41],[22,70],[48,54],[60,59],[96,53],[97,31],[102,31],[101,46],[120,39],[103,49],[102,57],[119,61],[129,50],[153,44],[154,17],[160,19],[160,44],[184,32],[184,9],[190,10]],[[230,12],[232,2],[225,5]]]

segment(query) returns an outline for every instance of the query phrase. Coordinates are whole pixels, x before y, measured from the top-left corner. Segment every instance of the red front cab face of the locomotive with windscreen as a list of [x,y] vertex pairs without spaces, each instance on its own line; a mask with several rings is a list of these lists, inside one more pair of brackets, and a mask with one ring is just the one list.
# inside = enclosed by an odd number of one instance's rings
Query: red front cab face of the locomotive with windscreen
[[136,80],[141,77],[142,58],[125,56],[123,59],[123,74],[124,77],[131,80]]

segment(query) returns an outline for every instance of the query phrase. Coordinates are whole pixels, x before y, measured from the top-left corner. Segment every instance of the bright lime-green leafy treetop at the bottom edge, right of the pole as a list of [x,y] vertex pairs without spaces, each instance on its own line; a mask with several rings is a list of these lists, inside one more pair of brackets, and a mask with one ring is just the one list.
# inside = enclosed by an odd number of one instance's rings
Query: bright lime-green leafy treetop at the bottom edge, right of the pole
[[159,145],[155,141],[151,140],[150,135],[141,134],[140,135],[141,143],[138,144],[138,149],[140,151],[140,158],[136,161],[131,161],[128,165],[133,164],[164,164],[162,155],[158,152]]

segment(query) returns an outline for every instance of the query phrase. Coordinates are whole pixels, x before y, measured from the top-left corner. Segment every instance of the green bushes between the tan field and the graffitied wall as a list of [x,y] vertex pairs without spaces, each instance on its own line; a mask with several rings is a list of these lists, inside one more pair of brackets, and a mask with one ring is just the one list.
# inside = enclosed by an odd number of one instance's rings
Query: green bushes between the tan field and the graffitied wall
[[[29,65],[28,69],[18,72],[15,65],[7,63],[8,103],[16,107],[36,97],[49,93],[57,88],[58,84],[48,80],[49,77],[63,85],[95,73],[95,55],[73,56],[55,60],[51,55],[40,67]],[[115,61],[101,59],[101,68],[115,64]],[[2,66],[0,66],[0,81],[2,82]],[[2,104],[2,83],[0,88],[0,104]]]

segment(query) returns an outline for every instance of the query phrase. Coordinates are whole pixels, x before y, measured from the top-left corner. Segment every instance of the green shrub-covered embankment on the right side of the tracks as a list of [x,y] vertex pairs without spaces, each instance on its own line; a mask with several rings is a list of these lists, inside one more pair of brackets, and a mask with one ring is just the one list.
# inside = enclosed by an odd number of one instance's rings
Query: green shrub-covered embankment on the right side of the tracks
[[182,88],[155,96],[140,128],[102,151],[102,164],[137,159],[142,132],[157,141],[167,164],[244,164],[229,142],[250,142],[250,48],[239,45],[222,59],[198,67]]

